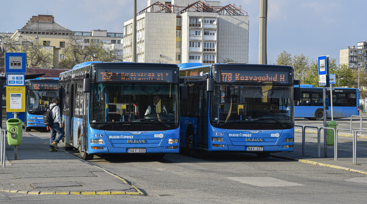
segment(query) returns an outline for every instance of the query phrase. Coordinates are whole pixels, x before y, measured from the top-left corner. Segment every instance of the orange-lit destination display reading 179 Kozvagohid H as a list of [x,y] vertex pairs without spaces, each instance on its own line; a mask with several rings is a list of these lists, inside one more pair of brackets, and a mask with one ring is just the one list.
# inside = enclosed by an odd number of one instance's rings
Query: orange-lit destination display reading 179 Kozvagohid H
[[249,71],[221,70],[220,82],[277,82],[287,84],[289,73],[286,71]]

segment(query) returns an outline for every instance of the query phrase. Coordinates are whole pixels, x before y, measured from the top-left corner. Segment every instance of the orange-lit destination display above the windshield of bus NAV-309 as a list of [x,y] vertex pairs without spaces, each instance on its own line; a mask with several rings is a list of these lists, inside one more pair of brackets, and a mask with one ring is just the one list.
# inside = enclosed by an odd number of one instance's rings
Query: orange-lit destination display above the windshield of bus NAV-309
[[[176,76],[177,77],[177,76]],[[161,81],[174,82],[173,70],[152,70],[152,69],[110,69],[105,71],[100,69],[98,81]]]

